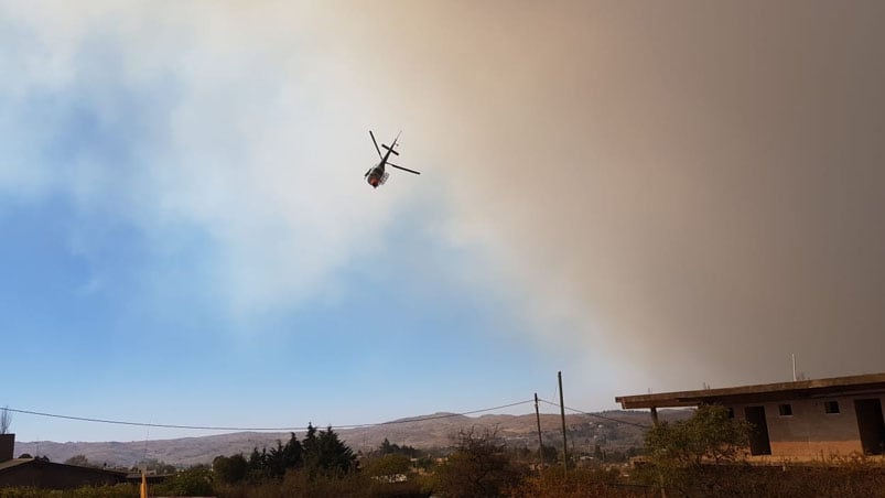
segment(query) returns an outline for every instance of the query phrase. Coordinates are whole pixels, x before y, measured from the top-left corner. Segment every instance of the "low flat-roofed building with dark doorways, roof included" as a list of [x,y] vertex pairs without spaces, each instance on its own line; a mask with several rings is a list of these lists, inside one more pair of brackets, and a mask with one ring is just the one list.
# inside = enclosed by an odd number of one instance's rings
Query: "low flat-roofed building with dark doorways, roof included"
[[820,459],[885,453],[885,374],[615,398],[624,409],[722,404],[753,424],[749,453]]

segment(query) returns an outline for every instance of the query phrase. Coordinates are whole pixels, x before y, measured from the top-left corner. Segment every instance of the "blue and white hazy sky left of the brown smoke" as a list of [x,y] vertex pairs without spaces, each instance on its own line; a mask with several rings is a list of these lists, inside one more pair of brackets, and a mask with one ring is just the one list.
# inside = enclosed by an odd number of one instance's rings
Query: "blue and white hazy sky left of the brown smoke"
[[[4,9],[4,72],[23,77],[2,97],[0,306],[17,377],[3,403],[302,426],[486,408],[552,385],[555,348],[539,356],[514,296],[484,283],[494,277],[467,281],[476,256],[442,235],[433,161],[422,177],[363,184],[367,130],[398,131],[382,127],[396,117],[376,121],[385,102],[341,112],[323,87],[346,84],[300,61],[307,46],[258,44],[252,59],[206,35],[195,54],[164,52],[144,40],[150,21],[127,31],[148,6],[46,7]],[[13,430],[144,431],[26,414]]]

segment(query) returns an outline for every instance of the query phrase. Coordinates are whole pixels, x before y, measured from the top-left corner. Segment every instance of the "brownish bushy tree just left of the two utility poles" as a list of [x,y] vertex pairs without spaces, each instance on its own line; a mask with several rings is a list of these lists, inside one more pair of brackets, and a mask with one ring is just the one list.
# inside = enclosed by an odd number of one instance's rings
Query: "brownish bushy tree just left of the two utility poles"
[[436,470],[436,486],[446,498],[501,496],[526,475],[505,451],[496,431],[461,431],[457,450]]

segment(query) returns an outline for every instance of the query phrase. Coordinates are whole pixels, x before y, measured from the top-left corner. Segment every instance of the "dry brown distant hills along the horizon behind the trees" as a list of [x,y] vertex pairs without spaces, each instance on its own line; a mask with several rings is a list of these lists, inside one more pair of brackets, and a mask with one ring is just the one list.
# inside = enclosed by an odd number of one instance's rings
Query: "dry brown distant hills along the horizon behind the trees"
[[[661,410],[662,420],[684,419],[689,410]],[[398,445],[414,446],[420,450],[445,448],[452,446],[453,437],[462,430],[497,429],[498,435],[514,447],[537,450],[538,432],[535,415],[483,415],[464,416],[436,413],[387,422],[365,429],[335,430],[355,452],[377,448],[387,439]],[[641,447],[644,429],[633,424],[649,425],[648,412],[607,411],[593,415],[566,415],[565,425],[570,445],[580,451],[592,452],[596,444],[606,451],[626,451],[630,446]],[[626,423],[623,423],[626,422]],[[323,427],[320,427],[323,429]],[[562,446],[561,421],[559,415],[542,414],[541,432],[546,445]],[[299,439],[303,433],[296,433]],[[238,432],[202,437],[144,441],[127,443],[55,443],[17,442],[15,456],[33,453],[39,444],[40,454],[53,462],[64,462],[75,455],[85,455],[96,464],[131,467],[148,459],[163,461],[177,466],[207,464],[218,455],[248,455],[252,448],[271,447],[277,440],[285,442],[288,433]]]

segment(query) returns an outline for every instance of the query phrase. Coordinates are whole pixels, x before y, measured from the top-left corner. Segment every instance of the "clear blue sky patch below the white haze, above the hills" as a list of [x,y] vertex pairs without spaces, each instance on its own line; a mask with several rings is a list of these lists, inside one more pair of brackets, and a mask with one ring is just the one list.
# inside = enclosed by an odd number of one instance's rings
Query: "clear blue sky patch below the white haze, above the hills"
[[[157,251],[137,227],[78,214],[61,195],[4,206],[0,302],[15,351],[7,365],[18,372],[9,403],[301,426],[485,408],[530,398],[537,380],[550,386],[557,367],[519,338],[507,297],[449,274],[468,256],[434,243],[422,228],[432,216],[398,217],[389,251],[343,266],[334,289],[242,317],[217,302],[205,262],[217,249],[199,230],[182,229],[174,249]],[[14,429],[25,440],[133,434],[56,424],[15,415]]]

